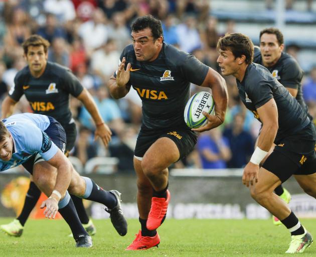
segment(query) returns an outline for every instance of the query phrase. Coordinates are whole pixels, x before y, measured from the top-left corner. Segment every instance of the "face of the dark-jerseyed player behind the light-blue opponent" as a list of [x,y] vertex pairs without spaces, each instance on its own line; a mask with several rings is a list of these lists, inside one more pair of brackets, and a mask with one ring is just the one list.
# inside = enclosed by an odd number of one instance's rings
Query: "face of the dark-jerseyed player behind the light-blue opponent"
[[40,76],[43,74],[48,54],[44,51],[44,46],[29,46],[28,53],[25,56],[32,75]]

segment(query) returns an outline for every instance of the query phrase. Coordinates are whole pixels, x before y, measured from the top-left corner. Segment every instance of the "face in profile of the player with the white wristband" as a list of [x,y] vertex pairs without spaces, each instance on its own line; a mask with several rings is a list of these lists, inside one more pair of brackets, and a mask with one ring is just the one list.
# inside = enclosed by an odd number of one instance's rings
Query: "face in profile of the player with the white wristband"
[[238,58],[235,58],[233,52],[230,50],[220,50],[219,53],[217,63],[221,67],[222,75],[228,76],[236,74],[239,70]]

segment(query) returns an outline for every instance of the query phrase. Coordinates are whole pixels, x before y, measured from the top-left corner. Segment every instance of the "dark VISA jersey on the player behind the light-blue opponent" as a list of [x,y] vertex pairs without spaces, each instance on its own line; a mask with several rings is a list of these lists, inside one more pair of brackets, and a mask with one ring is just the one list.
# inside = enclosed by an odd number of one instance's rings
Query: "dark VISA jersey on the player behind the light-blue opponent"
[[57,63],[47,62],[44,73],[35,78],[29,66],[19,71],[15,85],[9,95],[19,101],[25,94],[34,113],[49,115],[61,124],[68,124],[72,114],[69,108],[69,94],[77,97],[83,86],[72,72]]

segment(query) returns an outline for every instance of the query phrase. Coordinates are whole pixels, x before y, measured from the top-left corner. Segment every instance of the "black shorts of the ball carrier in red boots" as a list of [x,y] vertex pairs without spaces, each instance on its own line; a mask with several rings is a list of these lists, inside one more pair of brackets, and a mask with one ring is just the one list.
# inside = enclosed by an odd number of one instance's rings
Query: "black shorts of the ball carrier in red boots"
[[134,156],[142,158],[148,148],[160,138],[170,138],[176,143],[180,159],[187,156],[197,143],[198,136],[196,133],[188,129],[167,129],[167,130],[149,130],[142,126],[137,137]]

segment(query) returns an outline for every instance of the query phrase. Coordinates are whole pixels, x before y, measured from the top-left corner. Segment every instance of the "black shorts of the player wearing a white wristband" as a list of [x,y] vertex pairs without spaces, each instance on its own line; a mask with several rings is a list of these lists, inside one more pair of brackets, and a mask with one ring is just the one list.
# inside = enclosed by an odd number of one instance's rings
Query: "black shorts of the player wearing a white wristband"
[[316,173],[315,141],[283,140],[275,146],[262,167],[283,183],[292,175]]

